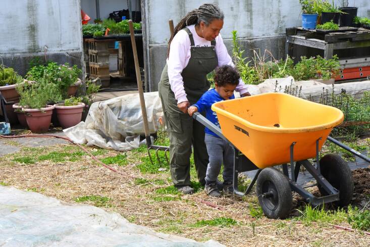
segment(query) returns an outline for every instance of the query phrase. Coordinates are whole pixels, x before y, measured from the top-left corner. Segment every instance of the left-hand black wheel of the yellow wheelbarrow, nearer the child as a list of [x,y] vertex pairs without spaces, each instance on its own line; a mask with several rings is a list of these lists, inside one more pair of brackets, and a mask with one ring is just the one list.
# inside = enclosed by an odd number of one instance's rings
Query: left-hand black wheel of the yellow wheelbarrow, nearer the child
[[292,191],[287,178],[275,168],[265,168],[256,182],[258,202],[271,219],[284,219],[293,206]]

